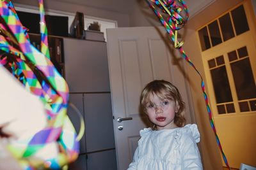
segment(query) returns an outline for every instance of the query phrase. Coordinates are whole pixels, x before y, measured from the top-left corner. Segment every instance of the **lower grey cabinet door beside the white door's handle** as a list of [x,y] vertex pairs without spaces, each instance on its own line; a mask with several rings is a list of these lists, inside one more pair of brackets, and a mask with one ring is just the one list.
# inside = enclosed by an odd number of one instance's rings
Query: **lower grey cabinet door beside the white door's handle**
[[110,94],[84,94],[84,118],[86,151],[115,149]]

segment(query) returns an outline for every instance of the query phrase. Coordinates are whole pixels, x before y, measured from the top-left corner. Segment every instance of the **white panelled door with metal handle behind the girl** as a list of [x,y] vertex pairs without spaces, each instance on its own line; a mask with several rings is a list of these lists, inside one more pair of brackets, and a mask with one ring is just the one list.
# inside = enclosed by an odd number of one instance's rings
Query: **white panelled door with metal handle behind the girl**
[[[182,73],[184,61],[165,44],[163,29],[127,27],[108,29],[108,62],[113,106],[116,159],[119,170],[127,169],[140,139],[140,129],[148,127],[140,111],[140,93],[150,81],[164,79],[176,85],[193,115],[189,89]],[[172,53],[172,55],[170,55]],[[194,117],[187,114],[188,122]],[[118,118],[127,118],[118,122]]]

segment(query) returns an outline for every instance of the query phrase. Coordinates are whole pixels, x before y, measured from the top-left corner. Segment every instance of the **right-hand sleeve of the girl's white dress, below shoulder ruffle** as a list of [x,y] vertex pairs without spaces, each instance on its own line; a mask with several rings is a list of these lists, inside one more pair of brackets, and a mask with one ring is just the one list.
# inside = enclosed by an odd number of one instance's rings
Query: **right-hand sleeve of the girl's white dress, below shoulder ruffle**
[[195,139],[193,139],[191,136],[188,136],[188,138],[184,140],[180,153],[182,158],[182,169],[203,169],[198,146],[196,145]]

